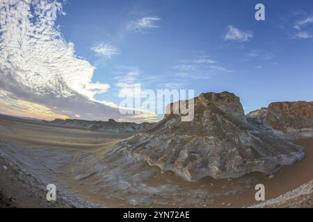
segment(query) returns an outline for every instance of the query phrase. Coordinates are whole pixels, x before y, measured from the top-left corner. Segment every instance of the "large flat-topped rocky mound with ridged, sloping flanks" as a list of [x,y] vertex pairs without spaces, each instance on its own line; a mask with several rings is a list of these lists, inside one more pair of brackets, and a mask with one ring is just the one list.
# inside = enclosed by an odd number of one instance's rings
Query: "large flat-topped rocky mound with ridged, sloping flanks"
[[167,114],[150,130],[117,144],[109,155],[135,157],[186,180],[271,173],[304,156],[300,146],[250,125],[234,94],[201,94],[194,104],[193,121]]

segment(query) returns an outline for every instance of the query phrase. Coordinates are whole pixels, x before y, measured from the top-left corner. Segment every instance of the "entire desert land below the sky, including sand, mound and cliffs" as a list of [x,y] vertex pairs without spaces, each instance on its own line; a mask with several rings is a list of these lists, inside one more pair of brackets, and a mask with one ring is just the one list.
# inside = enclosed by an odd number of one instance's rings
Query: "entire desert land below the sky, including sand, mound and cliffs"
[[[191,122],[167,114],[128,130],[113,120],[95,130],[1,115],[1,205],[312,207],[312,114],[313,103],[295,102],[245,115],[239,98],[222,92],[195,98]],[[45,199],[50,183],[55,203]]]

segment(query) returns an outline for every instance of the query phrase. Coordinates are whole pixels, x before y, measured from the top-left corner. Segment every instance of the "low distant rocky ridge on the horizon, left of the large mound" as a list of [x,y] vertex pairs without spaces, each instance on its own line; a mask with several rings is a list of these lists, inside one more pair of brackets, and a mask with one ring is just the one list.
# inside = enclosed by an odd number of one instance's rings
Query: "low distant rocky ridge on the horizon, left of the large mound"
[[55,119],[46,123],[59,126],[86,128],[95,131],[107,131],[113,133],[138,133],[150,128],[153,123],[129,123],[117,122],[114,119],[108,121],[88,121],[81,119]]

